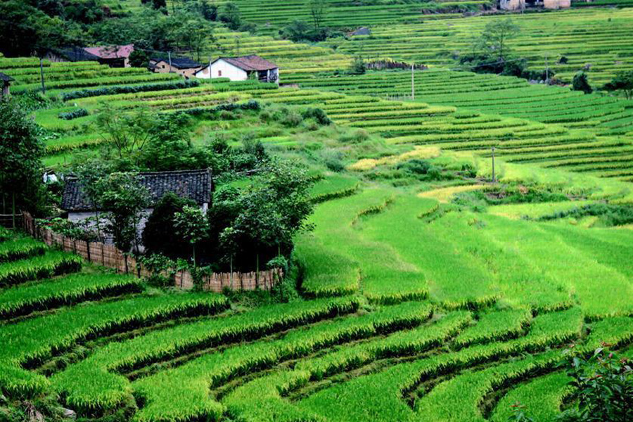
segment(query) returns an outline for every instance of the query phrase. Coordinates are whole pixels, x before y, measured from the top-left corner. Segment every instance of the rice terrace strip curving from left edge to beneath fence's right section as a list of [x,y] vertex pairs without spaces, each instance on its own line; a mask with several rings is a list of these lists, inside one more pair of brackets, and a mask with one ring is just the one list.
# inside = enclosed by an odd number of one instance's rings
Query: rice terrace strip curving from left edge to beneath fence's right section
[[41,392],[49,381],[23,369],[78,341],[127,331],[178,316],[213,314],[228,307],[220,295],[171,294],[72,307],[49,316],[0,326],[0,390],[10,397]]

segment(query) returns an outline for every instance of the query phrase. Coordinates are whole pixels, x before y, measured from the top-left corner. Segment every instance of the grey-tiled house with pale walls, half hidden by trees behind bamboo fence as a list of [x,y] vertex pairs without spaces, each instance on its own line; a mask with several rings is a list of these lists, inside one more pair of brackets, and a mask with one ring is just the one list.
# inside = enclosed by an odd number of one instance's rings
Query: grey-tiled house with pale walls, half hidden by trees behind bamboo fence
[[[147,218],[153,211],[153,205],[158,203],[165,193],[172,192],[181,198],[191,199],[204,212],[209,209],[213,188],[211,170],[139,173],[139,183],[148,189],[151,198],[150,207],[141,212],[139,224],[136,226],[139,237],[145,229]],[[68,212],[68,220],[74,223],[85,222],[87,219],[94,220],[100,212],[108,212],[108,210],[96,210],[85,195],[79,181],[72,177],[66,179],[61,208]],[[94,226],[94,223],[89,225]],[[112,239],[106,239],[106,242],[111,243]]]

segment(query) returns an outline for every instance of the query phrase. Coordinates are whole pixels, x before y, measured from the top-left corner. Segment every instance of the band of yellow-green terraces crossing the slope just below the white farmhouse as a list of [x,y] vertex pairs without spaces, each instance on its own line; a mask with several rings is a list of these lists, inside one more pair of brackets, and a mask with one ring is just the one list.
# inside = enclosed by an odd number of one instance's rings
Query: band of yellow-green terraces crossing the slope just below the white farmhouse
[[[6,59],[3,63],[17,79],[17,91],[30,87],[39,72],[34,60]],[[497,155],[508,162],[535,162],[543,167],[633,179],[633,103],[619,98],[531,86],[513,77],[447,70],[416,72],[416,101],[423,102],[411,102],[384,99],[402,99],[410,93],[409,72],[331,78],[295,74],[290,82],[305,88],[278,89],[272,84],[226,79],[184,81],[167,75],[165,80],[165,74],[127,69],[117,77],[94,78],[92,72],[102,68],[84,70],[94,67],[94,63],[49,63],[46,68],[46,75],[58,75],[58,87],[49,95],[68,98],[68,106],[36,115],[39,124],[60,134],[47,141],[51,156],[47,165],[65,162],[73,151],[93,148],[102,141],[100,134],[81,128],[94,121],[103,101],[129,110],[142,105],[169,112],[254,99],[318,106],[337,124],[383,136],[392,145],[441,146],[483,156],[490,155],[494,146]],[[78,108],[89,115],[59,118],[60,113]],[[263,141],[283,141],[267,130],[259,136]]]

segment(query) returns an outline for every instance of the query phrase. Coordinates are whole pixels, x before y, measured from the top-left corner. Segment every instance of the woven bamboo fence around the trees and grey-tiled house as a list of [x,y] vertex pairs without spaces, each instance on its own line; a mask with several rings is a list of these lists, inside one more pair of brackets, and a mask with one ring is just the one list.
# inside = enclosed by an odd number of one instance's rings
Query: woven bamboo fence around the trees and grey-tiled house
[[[23,229],[33,236],[44,241],[46,245],[56,245],[66,252],[74,252],[89,262],[103,267],[108,267],[121,274],[134,274],[137,277],[151,276],[152,271],[143,264],[114,245],[106,245],[101,242],[81,241],[58,233],[53,233],[51,229],[40,226],[28,213],[22,215]],[[270,290],[278,281],[283,279],[281,269],[269,269],[266,271],[231,273],[212,273],[202,276],[201,285],[203,290],[216,293],[222,292],[225,288],[230,290]],[[195,285],[193,274],[187,270],[175,271],[174,285],[178,288],[189,290]]]

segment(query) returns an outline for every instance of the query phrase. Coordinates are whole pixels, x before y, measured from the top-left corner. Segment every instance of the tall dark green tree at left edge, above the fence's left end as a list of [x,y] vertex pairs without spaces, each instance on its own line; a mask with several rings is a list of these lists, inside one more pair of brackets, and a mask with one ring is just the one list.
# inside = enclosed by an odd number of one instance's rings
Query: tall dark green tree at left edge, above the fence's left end
[[37,139],[37,127],[11,97],[0,98],[0,192],[3,212],[37,212],[44,198],[41,183],[44,143]]

